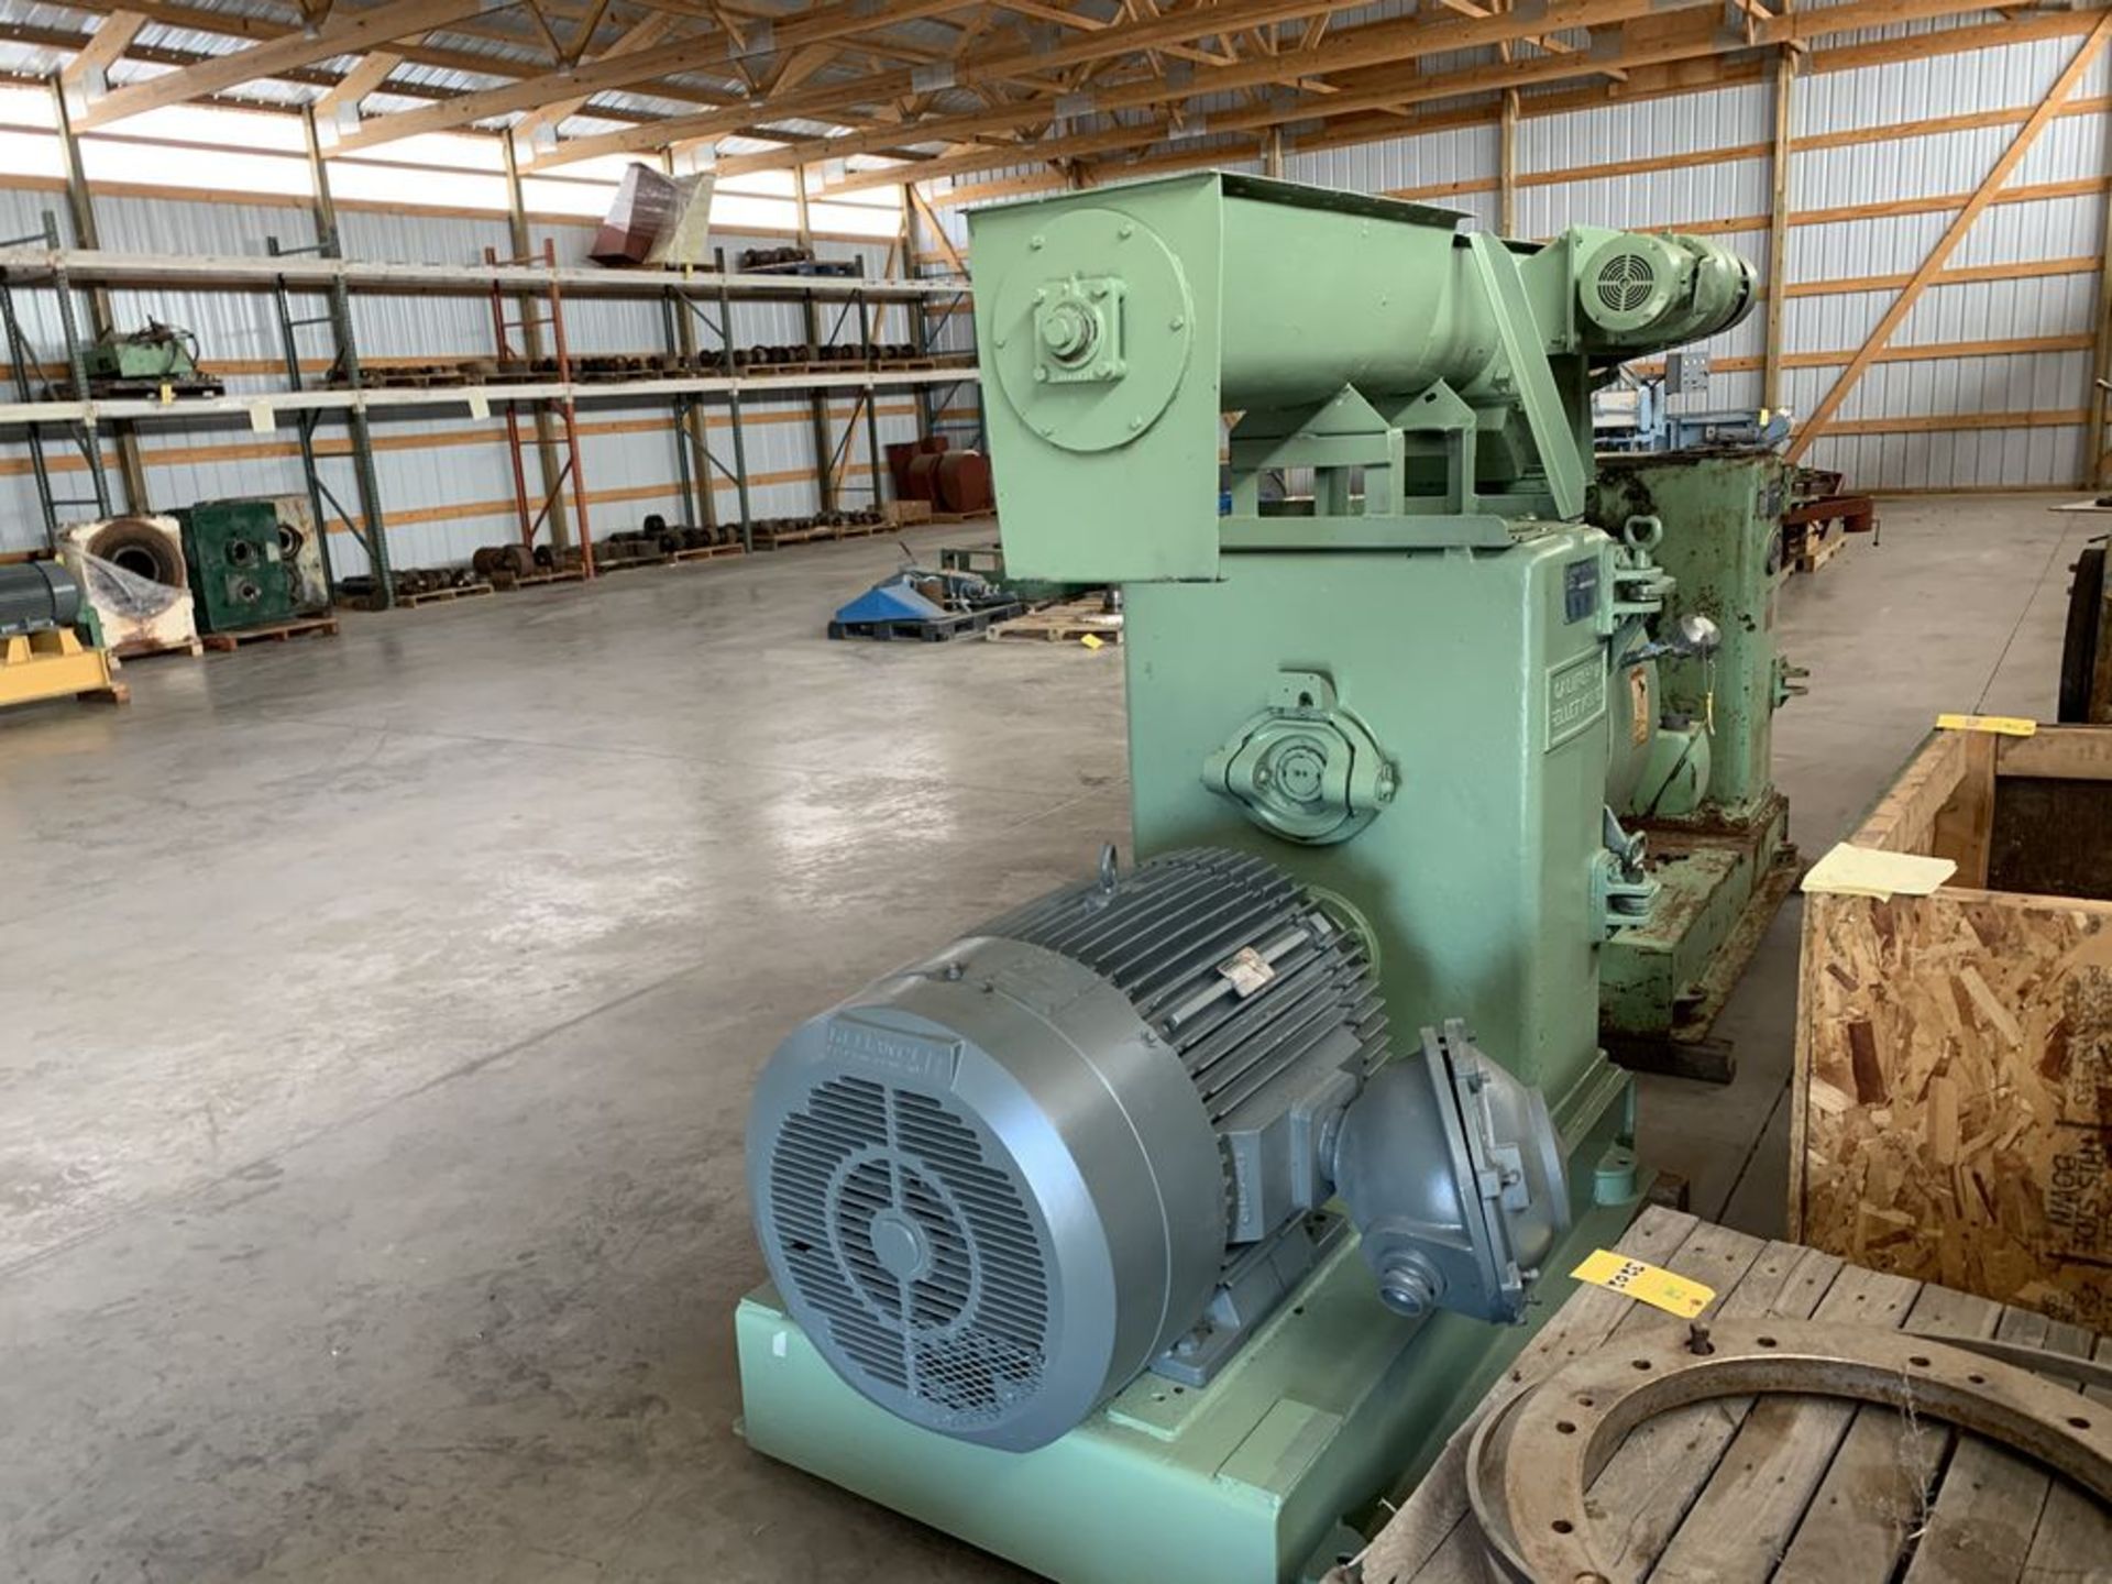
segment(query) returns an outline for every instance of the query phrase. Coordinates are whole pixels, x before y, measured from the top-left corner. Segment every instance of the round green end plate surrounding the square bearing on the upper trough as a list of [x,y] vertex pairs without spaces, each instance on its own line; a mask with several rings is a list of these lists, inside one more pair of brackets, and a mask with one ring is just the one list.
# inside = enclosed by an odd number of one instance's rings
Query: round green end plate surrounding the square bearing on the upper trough
[[[1069,281],[1121,283],[1121,361],[1111,380],[1037,380],[1035,294]],[[1187,374],[1195,304],[1157,232],[1117,209],[1056,215],[1029,243],[991,313],[991,359],[1020,420],[1052,446],[1105,452],[1157,422]]]

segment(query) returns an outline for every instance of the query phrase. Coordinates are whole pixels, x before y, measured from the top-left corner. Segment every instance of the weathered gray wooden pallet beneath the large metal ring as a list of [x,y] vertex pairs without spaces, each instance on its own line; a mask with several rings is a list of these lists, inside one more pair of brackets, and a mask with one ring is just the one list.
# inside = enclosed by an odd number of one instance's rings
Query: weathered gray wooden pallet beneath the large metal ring
[[[1618,1248],[1715,1288],[1702,1320],[1907,1326],[2112,1358],[2112,1343],[2080,1326],[1677,1210],[1643,1210]],[[1683,1331],[1685,1320],[1578,1286],[1371,1542],[1362,1584],[1491,1578],[1466,1497],[1474,1426],[1571,1356],[1666,1326]],[[1880,1584],[1901,1578],[1911,1557],[1913,1580],[2002,1584],[2106,1578],[2112,1557],[2112,1514],[2036,1464],[1935,1421],[1833,1398],[1730,1398],[1658,1415],[1628,1432],[1590,1504],[1601,1533],[1626,1535],[1622,1578]],[[1347,1578],[1337,1569],[1328,1584]]]

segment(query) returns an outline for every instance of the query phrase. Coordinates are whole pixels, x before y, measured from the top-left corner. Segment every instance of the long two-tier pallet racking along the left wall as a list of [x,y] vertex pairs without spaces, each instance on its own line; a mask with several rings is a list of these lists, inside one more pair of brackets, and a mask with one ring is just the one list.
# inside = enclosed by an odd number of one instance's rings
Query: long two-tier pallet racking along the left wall
[[[55,224],[46,222],[46,241],[57,237]],[[332,515],[342,520],[367,551],[376,589],[386,600],[389,591],[389,547],[382,517],[380,488],[374,475],[372,439],[367,435],[370,414],[418,412],[435,408],[469,408],[473,414],[505,412],[509,422],[509,444],[513,446],[515,503],[524,543],[541,532],[545,522],[553,522],[553,507],[560,492],[570,484],[572,511],[579,520],[579,543],[585,549],[585,570],[591,577],[591,534],[587,532],[587,494],[579,475],[579,448],[574,406],[579,401],[670,401],[676,425],[686,431],[689,446],[678,446],[680,488],[684,503],[699,522],[712,520],[712,479],[716,469],[739,494],[743,545],[748,543],[750,503],[748,465],[741,441],[741,401],[756,397],[809,395],[826,397],[830,391],[857,393],[857,408],[845,425],[841,444],[828,437],[826,418],[817,416],[817,456],[824,509],[834,507],[836,473],[851,460],[851,444],[864,418],[864,437],[870,452],[872,496],[879,505],[885,460],[881,456],[879,425],[874,414],[874,393],[881,389],[917,389],[921,395],[936,395],[944,386],[976,382],[972,363],[940,363],[929,357],[931,327],[929,315],[953,308],[967,300],[965,281],[953,279],[868,279],[841,275],[777,275],[777,272],[718,272],[718,270],[608,270],[596,266],[558,264],[549,245],[541,258],[532,260],[490,260],[484,264],[393,264],[346,260],[336,256],[334,237],[304,249],[283,249],[277,239],[266,243],[264,256],[182,256],[182,253],[118,253],[95,247],[57,245],[0,245],[0,308],[4,308],[8,353],[17,367],[17,401],[0,401],[0,427],[25,427],[32,448],[46,429],[59,429],[84,441],[91,456],[91,471],[97,479],[97,494],[108,513],[108,492],[101,486],[101,469],[95,465],[95,435],[101,427],[129,427],[156,420],[194,418],[245,418],[258,429],[272,429],[281,418],[294,420],[300,439],[300,460],[306,475],[308,498],[319,524]],[[19,340],[13,294],[25,287],[53,289],[59,296],[59,327],[68,340],[65,361],[76,367],[82,344],[76,319],[70,310],[72,289],[91,287],[148,287],[188,291],[270,291],[279,302],[279,323],[283,340],[283,361],[287,389],[256,391],[220,397],[93,397],[82,378],[70,382],[72,397],[36,399],[23,380],[23,370],[36,365],[36,357]],[[323,296],[327,313],[296,319],[291,296]],[[581,380],[574,374],[577,357],[560,351],[555,378],[482,380],[431,386],[370,386],[363,382],[359,348],[353,334],[351,298],[355,294],[397,294],[397,296],[484,296],[494,304],[494,338],[501,355],[511,353],[509,329],[530,325],[549,327],[558,346],[564,348],[564,300],[566,298],[631,298],[659,300],[663,304],[663,325],[667,351],[682,357],[691,367],[720,363],[712,374],[653,374],[642,378],[596,378]],[[507,300],[517,306],[517,319],[505,317]],[[834,323],[813,342],[832,342],[855,315],[857,344],[870,342],[872,310],[887,304],[910,304],[912,344],[919,357],[906,367],[845,363],[828,370],[798,370],[756,374],[735,365],[733,304],[737,302],[794,302],[805,304],[809,323],[819,323],[819,315],[834,310]],[[530,319],[530,315],[534,315]],[[302,355],[298,332],[308,325],[329,329],[329,382],[306,384],[302,378]],[[697,329],[710,338],[699,342]],[[724,399],[731,422],[733,460],[727,465],[712,454],[708,427],[701,408],[708,399]],[[526,469],[520,467],[522,435],[517,414],[549,412],[562,420],[564,463],[545,467],[545,494],[541,505],[530,498]],[[919,401],[919,422],[929,425],[931,403]],[[342,416],[351,429],[351,456],[355,482],[361,496],[359,513],[344,509],[317,469],[315,431],[327,416]],[[553,444],[539,425],[539,448]],[[61,503],[51,494],[42,467],[38,473],[38,494],[44,507],[46,528],[57,528]],[[332,511],[323,505],[329,503]],[[365,530],[361,532],[361,522]],[[325,541],[327,543],[327,541]],[[334,572],[332,572],[334,577]]]

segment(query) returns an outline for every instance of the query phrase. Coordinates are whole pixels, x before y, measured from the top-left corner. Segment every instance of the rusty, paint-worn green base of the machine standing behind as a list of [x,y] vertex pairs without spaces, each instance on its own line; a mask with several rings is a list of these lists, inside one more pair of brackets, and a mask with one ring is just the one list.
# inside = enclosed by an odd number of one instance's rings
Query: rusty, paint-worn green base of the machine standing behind
[[1709,1029],[1797,879],[1789,805],[1774,794],[1745,826],[1641,830],[1662,889],[1649,923],[1599,953],[1603,1035],[1626,1067],[1728,1083],[1730,1048]]

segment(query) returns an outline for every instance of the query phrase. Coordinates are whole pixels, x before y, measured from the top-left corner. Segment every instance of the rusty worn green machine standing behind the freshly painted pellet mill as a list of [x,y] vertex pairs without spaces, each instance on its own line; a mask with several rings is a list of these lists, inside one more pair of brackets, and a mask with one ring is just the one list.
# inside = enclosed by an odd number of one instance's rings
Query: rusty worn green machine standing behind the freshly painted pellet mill
[[[1660,885],[1599,967],[1607,1041],[1637,1069],[1732,1077],[1734,1052],[1709,1029],[1795,881],[1772,775],[1774,712],[1804,691],[1774,636],[1791,471],[1759,448],[1599,463],[1592,522],[1664,524],[1654,555],[1677,587],[1660,625],[1700,619],[1719,634],[1709,653],[1630,665],[1614,686],[1630,765],[1616,807],[1647,834]],[[1662,731],[1666,718],[1685,729]]]

